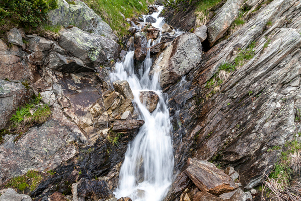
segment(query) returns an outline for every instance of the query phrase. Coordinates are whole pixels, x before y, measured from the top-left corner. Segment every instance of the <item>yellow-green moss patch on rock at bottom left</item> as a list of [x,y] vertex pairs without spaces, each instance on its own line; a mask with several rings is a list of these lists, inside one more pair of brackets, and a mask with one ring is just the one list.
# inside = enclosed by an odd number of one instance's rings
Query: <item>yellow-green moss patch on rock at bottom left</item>
[[7,182],[5,187],[6,188],[13,187],[20,191],[24,191],[26,189],[30,191],[34,191],[36,187],[39,185],[39,183],[42,181],[42,179],[43,176],[40,172],[31,170],[23,176],[19,176],[11,179],[9,182]]

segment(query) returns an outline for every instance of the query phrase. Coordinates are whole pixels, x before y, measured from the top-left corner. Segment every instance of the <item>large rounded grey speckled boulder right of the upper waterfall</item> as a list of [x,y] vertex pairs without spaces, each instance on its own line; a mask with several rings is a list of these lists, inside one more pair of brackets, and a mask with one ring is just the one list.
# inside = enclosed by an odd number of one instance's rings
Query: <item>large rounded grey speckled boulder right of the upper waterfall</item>
[[158,66],[161,69],[160,84],[165,88],[176,83],[182,75],[195,68],[202,60],[202,44],[193,33],[178,36],[163,52]]

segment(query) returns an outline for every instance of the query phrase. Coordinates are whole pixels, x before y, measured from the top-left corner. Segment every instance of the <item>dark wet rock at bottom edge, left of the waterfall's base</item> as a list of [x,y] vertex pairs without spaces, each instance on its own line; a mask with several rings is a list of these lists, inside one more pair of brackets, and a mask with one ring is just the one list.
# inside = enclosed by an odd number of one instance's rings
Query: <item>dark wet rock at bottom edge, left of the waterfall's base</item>
[[85,178],[72,184],[73,201],[86,200],[108,200],[114,197],[105,181],[90,181]]

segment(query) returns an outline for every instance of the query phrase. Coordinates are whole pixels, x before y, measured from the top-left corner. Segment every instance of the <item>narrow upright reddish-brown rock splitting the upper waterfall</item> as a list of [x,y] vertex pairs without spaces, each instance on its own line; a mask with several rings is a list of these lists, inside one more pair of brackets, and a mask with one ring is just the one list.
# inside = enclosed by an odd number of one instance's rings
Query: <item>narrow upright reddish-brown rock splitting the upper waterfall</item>
[[147,39],[144,33],[137,32],[134,35],[135,58],[144,61],[147,55]]

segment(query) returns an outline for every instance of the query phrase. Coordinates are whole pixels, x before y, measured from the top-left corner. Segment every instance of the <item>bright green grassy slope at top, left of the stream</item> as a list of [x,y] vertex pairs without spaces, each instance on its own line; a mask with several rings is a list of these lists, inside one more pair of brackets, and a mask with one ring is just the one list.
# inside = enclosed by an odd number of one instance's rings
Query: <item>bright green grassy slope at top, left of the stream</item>
[[[101,18],[107,22],[114,30],[114,34],[122,37],[128,34],[129,24],[124,23],[125,18],[131,18],[148,12],[147,2],[153,3],[153,0],[84,0],[84,2],[93,9]],[[122,14],[121,14],[122,13]]]

